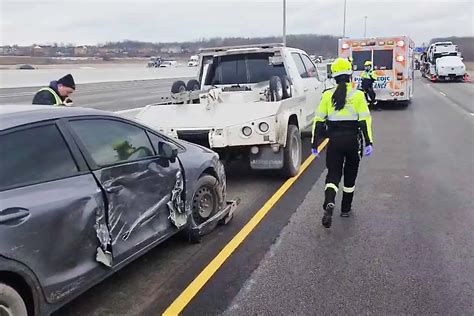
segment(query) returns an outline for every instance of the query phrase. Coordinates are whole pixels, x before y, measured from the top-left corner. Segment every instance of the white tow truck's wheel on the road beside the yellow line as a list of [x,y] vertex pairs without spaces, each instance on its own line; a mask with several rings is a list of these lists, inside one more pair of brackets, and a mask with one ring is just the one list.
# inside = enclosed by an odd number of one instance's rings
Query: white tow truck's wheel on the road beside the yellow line
[[285,177],[294,177],[300,170],[301,166],[301,134],[295,125],[288,125],[286,134],[286,147],[283,152],[283,169],[282,173]]

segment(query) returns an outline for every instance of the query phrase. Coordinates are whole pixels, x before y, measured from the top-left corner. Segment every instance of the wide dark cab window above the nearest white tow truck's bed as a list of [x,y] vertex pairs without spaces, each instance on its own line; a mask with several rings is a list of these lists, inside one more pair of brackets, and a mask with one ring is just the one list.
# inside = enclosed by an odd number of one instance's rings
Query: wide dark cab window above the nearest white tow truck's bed
[[274,53],[246,53],[216,56],[207,70],[205,85],[248,84],[286,75],[283,64],[272,64]]

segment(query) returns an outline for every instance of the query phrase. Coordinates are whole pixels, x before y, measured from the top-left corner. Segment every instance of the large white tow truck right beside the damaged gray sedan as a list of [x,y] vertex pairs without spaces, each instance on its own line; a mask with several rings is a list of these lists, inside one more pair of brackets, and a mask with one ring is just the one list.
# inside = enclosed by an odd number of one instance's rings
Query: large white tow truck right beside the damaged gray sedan
[[296,175],[301,133],[311,131],[325,88],[308,54],[282,44],[218,47],[201,50],[199,65],[196,79],[174,82],[170,98],[135,118],[226,161]]

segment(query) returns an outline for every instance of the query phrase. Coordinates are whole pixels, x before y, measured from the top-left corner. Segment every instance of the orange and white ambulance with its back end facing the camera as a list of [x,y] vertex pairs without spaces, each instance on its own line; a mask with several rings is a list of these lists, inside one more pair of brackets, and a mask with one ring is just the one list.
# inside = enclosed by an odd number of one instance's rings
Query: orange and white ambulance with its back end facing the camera
[[339,57],[352,60],[353,85],[361,88],[364,63],[371,61],[377,74],[376,99],[408,103],[413,97],[415,43],[408,36],[339,39]]

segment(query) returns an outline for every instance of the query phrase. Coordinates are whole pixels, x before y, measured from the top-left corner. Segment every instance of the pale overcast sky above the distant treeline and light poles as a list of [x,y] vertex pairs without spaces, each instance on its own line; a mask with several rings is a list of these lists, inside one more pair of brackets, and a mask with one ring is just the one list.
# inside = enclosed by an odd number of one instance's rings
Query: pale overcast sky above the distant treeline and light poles
[[[282,0],[0,0],[0,44],[280,35]],[[287,0],[288,34],[342,35],[344,0]],[[347,0],[346,36],[474,36],[474,0]]]

